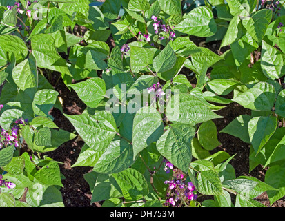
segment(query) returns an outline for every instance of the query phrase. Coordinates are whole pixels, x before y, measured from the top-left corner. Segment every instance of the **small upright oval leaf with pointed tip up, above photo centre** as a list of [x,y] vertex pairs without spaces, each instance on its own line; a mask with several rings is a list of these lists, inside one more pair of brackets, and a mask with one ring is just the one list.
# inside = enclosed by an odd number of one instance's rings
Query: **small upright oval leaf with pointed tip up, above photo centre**
[[176,59],[173,48],[167,44],[167,46],[161,50],[159,55],[153,59],[153,68],[155,68],[155,72],[157,73],[170,70],[175,65]]

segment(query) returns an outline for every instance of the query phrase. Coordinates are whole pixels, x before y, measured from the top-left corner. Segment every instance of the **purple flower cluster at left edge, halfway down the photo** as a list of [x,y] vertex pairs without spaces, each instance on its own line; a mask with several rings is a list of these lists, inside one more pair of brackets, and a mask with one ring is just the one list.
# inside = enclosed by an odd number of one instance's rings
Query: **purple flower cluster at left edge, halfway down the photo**
[[8,131],[1,128],[1,134],[0,134],[0,149],[3,148],[3,146],[10,146],[12,144],[15,145],[15,147],[19,147],[19,141],[18,141],[18,131],[20,130],[21,126],[24,126],[28,122],[28,119],[23,120],[17,119],[14,123],[14,126],[12,129],[9,129]]

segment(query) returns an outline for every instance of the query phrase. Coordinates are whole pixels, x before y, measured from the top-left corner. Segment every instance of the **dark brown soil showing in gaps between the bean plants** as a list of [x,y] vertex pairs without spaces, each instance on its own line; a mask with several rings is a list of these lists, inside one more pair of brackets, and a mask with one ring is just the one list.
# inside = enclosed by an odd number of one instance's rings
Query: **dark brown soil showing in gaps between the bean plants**
[[[190,38],[191,39],[191,38]],[[204,43],[203,38],[199,39],[191,39],[195,41],[195,44],[199,46],[206,46],[210,50],[213,50],[217,54],[221,54],[227,48],[224,48],[222,52],[219,51],[219,42],[211,42],[210,44]],[[110,48],[114,46],[114,42],[110,37],[108,39],[108,44]],[[189,70],[183,70],[181,73],[188,74]],[[100,74],[100,73],[98,73]],[[52,78],[50,79],[50,83],[55,85],[55,82],[60,77],[59,73],[52,73]],[[195,85],[195,82],[193,82]],[[81,102],[75,91],[68,90],[66,85],[63,83],[61,78],[59,79],[57,85],[55,86],[55,90],[59,92],[59,97],[61,97],[63,103],[63,113],[68,115],[77,115],[81,114],[86,108],[86,105]],[[68,122],[68,119],[63,116],[63,113],[56,108],[53,108],[50,114],[55,118],[55,124],[66,131],[75,132],[75,128]],[[250,115],[250,110],[239,106],[239,104],[232,103],[228,104],[226,108],[223,108],[220,111],[216,112],[218,115],[222,115],[224,118],[222,119],[214,119],[217,126],[217,131],[221,131],[228,123],[230,123],[235,117],[248,114]],[[257,177],[259,180],[264,180],[264,175],[266,170],[262,169],[262,166],[257,166],[251,173],[249,173],[249,144],[242,142],[237,137],[233,137],[226,133],[218,133],[218,140],[222,143],[222,145],[215,148],[212,153],[217,151],[226,151],[230,155],[235,155],[234,159],[230,162],[235,168],[236,176],[239,175],[248,175]],[[50,153],[46,153],[48,156],[52,157],[52,159],[57,160],[59,162],[63,162],[63,164],[59,164],[61,173],[66,177],[63,180],[63,188],[61,189],[61,193],[63,195],[63,202],[66,207],[99,207],[102,202],[97,202],[94,204],[90,204],[91,192],[90,187],[86,180],[83,179],[83,175],[88,173],[88,171],[92,171],[91,167],[83,167],[78,166],[72,168],[72,164],[75,164],[77,157],[81,151],[83,146],[82,141],[71,140],[62,144],[57,148],[57,150],[52,151]],[[234,196],[233,196],[234,198]],[[266,193],[259,195],[256,198],[259,202],[262,202],[266,206],[270,206],[268,197]],[[275,202],[272,207],[285,207],[285,198],[282,198]]]

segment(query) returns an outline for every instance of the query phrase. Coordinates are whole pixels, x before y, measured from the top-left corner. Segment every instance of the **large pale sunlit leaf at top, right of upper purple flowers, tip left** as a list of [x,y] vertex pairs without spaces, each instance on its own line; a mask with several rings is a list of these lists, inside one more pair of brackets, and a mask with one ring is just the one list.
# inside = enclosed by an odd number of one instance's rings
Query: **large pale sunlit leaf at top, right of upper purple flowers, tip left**
[[175,26],[175,30],[188,35],[209,37],[217,32],[217,24],[213,12],[206,6],[200,6],[184,15],[184,20]]

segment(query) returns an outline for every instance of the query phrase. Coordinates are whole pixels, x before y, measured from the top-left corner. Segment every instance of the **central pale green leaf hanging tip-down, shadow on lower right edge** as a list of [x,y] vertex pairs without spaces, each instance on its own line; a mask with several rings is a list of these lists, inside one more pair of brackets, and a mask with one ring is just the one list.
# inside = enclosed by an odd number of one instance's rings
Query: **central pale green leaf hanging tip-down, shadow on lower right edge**
[[146,106],[137,111],[132,126],[132,146],[134,159],[137,154],[151,143],[156,142],[164,133],[164,124],[159,112]]

